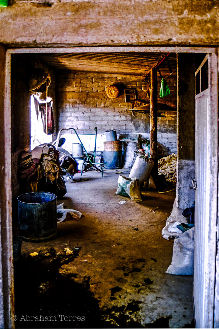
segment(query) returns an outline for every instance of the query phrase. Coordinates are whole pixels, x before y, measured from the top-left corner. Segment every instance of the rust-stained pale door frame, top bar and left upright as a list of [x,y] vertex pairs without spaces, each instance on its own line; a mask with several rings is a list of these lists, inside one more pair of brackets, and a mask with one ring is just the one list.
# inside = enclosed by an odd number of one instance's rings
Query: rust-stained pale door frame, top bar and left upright
[[[5,172],[4,172],[4,185],[6,187],[5,193],[1,193],[1,200],[5,204],[6,216],[1,218],[1,226],[7,228],[7,234],[4,239],[4,250],[7,250],[7,263],[2,263],[2,266],[7,267],[7,284],[3,287],[5,291],[9,291],[9,299],[4,304],[5,313],[5,327],[13,328],[13,310],[14,310],[14,293],[13,293],[13,260],[12,260],[12,215],[11,215],[11,55],[13,54],[41,54],[41,53],[131,53],[131,52],[157,52],[157,53],[208,53],[214,58],[217,58],[216,47],[148,47],[148,46],[99,46],[99,47],[58,47],[58,48],[13,48],[7,49],[5,58],[5,100],[4,100],[4,152],[6,156]],[[217,62],[216,62],[217,63]],[[216,76],[216,73],[215,73]],[[214,78],[214,82],[216,79]],[[217,95],[213,93],[212,102],[217,104]],[[215,113],[216,114],[216,113]],[[216,118],[218,120],[218,117]],[[218,136],[218,126],[214,118],[212,136]],[[218,163],[216,160],[217,147],[214,145],[212,148],[215,165]],[[217,186],[217,182],[215,182]],[[216,205],[215,205],[216,206]],[[215,209],[217,212],[217,210]],[[1,264],[0,264],[1,265]]]

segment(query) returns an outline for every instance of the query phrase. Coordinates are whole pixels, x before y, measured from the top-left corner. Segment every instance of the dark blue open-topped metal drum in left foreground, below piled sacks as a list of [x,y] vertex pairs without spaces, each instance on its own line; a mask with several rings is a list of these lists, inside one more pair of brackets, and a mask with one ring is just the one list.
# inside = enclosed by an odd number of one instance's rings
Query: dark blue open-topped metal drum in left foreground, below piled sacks
[[56,195],[50,192],[21,194],[18,200],[19,234],[25,241],[42,242],[57,234]]

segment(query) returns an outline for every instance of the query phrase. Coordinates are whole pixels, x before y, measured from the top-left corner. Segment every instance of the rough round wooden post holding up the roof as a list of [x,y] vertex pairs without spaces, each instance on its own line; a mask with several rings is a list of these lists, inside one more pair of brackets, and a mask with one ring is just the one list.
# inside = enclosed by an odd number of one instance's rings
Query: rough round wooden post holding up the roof
[[150,157],[154,161],[153,178],[157,180],[158,152],[157,152],[157,69],[151,69],[150,90]]

